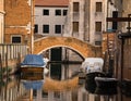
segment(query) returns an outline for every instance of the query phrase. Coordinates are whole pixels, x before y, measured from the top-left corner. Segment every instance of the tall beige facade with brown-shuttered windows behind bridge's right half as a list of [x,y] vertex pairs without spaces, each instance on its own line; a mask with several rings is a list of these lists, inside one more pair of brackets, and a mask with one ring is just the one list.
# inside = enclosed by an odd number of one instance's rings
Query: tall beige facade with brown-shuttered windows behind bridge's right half
[[106,17],[112,16],[114,11],[110,0],[70,0],[63,36],[100,46],[103,31],[112,26],[107,26]]

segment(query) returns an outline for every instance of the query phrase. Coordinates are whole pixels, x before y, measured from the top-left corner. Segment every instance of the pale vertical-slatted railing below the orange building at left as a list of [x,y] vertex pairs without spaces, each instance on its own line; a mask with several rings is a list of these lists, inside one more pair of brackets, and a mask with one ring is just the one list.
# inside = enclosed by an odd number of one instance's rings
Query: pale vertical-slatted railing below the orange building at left
[[19,43],[0,43],[0,54],[2,61],[5,60],[5,54],[8,56],[8,60],[17,59],[19,54],[21,56],[27,54],[27,46]]

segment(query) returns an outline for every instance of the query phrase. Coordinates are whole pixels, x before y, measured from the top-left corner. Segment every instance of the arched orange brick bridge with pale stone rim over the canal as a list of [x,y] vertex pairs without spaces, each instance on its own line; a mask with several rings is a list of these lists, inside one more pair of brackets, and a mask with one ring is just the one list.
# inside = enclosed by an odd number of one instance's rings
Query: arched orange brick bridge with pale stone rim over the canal
[[72,37],[44,37],[35,40],[34,54],[39,54],[43,51],[49,50],[56,47],[67,47],[83,59],[88,56],[102,56],[100,47],[94,47],[87,42]]

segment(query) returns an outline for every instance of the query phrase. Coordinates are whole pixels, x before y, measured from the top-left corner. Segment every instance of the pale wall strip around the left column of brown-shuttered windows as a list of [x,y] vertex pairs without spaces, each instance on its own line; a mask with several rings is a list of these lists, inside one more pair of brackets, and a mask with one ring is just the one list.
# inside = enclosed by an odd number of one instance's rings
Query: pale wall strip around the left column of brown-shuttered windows
[[[79,2],[79,12],[73,12],[73,2]],[[70,0],[63,36],[84,38],[84,4],[85,0]],[[75,13],[75,14],[74,14]],[[76,15],[76,16],[75,16]],[[79,33],[73,33],[73,22],[79,22]]]

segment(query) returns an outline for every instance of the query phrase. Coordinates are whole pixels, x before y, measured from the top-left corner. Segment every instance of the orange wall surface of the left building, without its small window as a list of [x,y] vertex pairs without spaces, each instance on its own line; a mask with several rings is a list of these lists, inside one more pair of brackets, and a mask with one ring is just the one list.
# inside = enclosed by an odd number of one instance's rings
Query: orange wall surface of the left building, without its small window
[[27,25],[31,23],[31,14],[32,14],[31,12],[32,7],[28,4],[28,2],[29,0],[5,0],[4,40],[7,43],[11,42],[11,35],[21,35],[22,42],[24,42],[25,36],[26,37],[31,36],[31,33],[28,33],[28,29],[31,29],[31,27],[26,29]]

